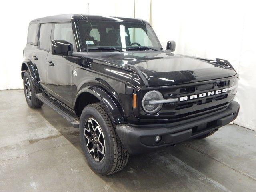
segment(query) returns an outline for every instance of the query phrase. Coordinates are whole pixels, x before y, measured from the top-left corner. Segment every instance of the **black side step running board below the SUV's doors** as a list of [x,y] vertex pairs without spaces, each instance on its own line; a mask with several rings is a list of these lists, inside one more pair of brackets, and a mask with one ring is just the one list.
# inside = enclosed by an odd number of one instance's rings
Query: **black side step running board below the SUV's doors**
[[69,112],[66,108],[61,106],[58,102],[54,101],[52,98],[47,96],[45,93],[38,93],[36,97],[42,101],[44,104],[48,105],[50,108],[54,109],[58,114],[68,120],[73,127],[79,128],[79,118],[78,116]]

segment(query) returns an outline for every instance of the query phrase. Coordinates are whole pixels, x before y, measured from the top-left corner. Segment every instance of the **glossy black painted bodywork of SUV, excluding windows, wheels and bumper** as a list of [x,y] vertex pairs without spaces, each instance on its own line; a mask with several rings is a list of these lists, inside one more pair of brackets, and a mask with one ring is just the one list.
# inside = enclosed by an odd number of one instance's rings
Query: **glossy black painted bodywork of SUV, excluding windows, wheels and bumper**
[[[125,22],[145,23],[143,20],[104,16],[89,16],[89,19],[108,22],[119,19]],[[79,34],[76,30],[79,20],[87,20],[87,17],[69,14],[33,20],[31,23],[38,25],[52,22],[53,27],[56,22],[71,22],[75,42],[74,52],[58,55],[53,50],[40,50],[36,45],[27,44],[22,65],[22,71],[30,71],[35,85],[78,116],[80,114],[77,105],[83,93],[89,95],[83,98],[87,103],[90,103],[91,98],[97,98],[102,102],[117,124],[178,121],[220,110],[233,100],[232,94],[204,105],[196,103],[201,102],[200,100],[195,100],[192,107],[179,110],[176,110],[176,107],[180,103],[164,104],[157,114],[146,114],[141,107],[141,100],[148,90],[159,90],[164,98],[171,98],[180,96],[182,94],[180,90],[194,86],[193,93],[196,94],[200,92],[198,88],[204,84],[226,80],[230,85],[238,75],[232,66],[225,62],[182,56],[171,53],[171,50],[84,52],[81,50]],[[170,47],[174,49],[173,46]],[[132,108],[133,93],[138,95],[136,109]],[[192,94],[192,92],[185,93]]]

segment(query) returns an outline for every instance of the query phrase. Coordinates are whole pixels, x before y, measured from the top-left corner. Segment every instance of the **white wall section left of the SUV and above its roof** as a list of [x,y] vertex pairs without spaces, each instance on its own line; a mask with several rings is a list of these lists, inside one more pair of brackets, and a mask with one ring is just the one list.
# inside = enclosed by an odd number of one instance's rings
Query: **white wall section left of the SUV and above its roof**
[[20,76],[28,24],[44,16],[78,13],[134,17],[134,0],[26,0],[4,1],[0,6],[0,90],[23,88]]

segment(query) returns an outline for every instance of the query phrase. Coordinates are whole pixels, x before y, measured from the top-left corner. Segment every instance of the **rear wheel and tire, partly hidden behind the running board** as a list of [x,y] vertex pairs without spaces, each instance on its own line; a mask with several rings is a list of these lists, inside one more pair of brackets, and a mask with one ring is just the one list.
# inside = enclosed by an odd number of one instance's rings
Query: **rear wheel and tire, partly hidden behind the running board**
[[34,86],[29,71],[24,73],[23,87],[28,106],[31,108],[40,108],[44,103],[36,98],[36,94],[41,91],[38,87]]

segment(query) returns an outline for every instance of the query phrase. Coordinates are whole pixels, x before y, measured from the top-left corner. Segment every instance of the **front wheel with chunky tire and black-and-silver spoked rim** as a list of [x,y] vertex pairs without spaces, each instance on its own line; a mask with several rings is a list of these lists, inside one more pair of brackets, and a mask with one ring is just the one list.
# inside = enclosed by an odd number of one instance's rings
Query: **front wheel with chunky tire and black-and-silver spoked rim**
[[129,153],[101,103],[84,108],[79,129],[84,155],[94,171],[110,175],[126,166]]

